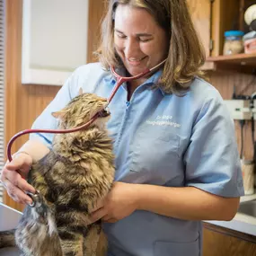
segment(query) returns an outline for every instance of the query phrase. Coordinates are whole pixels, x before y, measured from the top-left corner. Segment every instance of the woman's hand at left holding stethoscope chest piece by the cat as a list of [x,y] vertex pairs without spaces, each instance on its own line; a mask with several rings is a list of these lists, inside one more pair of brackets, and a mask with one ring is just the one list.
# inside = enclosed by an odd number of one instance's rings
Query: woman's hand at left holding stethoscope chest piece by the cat
[[12,162],[7,162],[1,172],[0,180],[8,195],[16,202],[31,204],[32,199],[24,193],[30,191],[35,193],[35,189],[25,180],[30,172],[32,157],[30,154],[17,153]]

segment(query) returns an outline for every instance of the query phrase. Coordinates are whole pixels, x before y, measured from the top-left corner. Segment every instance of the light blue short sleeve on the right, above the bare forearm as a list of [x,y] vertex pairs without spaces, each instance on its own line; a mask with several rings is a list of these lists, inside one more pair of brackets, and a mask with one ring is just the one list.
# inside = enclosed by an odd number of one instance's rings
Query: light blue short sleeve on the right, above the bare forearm
[[222,197],[243,196],[243,177],[231,119],[221,97],[205,100],[184,154],[185,185]]

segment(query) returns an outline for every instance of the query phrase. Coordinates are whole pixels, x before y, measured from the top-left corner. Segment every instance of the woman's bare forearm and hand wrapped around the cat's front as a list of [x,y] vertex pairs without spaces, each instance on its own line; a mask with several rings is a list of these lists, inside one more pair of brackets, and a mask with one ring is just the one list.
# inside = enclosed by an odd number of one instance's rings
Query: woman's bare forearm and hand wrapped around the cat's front
[[135,210],[186,220],[231,220],[239,198],[223,198],[195,187],[167,188],[115,182],[110,193],[93,210],[92,222],[116,222]]

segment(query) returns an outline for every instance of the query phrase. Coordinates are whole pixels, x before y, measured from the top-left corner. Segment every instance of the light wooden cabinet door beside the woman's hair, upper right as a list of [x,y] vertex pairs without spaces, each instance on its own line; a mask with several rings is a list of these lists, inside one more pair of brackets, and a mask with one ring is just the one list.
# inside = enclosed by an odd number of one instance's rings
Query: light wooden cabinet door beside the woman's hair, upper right
[[199,33],[206,56],[210,56],[210,0],[187,0],[195,28]]

